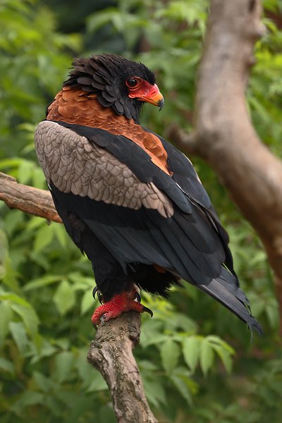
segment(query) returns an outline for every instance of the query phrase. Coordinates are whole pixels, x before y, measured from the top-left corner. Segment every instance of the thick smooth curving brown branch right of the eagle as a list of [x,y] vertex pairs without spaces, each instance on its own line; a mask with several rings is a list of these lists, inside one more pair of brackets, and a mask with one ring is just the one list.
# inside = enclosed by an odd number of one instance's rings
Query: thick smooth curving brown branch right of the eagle
[[252,223],[274,270],[282,328],[282,163],[262,144],[247,113],[253,48],[264,33],[259,0],[212,0],[197,88],[195,132],[171,138],[216,171]]

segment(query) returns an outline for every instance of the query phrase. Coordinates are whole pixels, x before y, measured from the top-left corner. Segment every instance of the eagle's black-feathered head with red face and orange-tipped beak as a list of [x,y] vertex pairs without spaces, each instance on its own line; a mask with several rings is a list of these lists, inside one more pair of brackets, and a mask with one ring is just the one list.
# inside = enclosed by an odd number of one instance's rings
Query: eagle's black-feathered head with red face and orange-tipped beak
[[144,102],[164,106],[154,73],[142,63],[115,54],[93,55],[75,59],[73,70],[63,86],[80,87],[95,93],[100,104],[112,107],[116,114],[139,121]]

